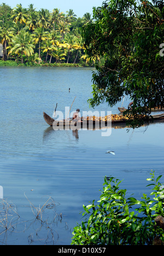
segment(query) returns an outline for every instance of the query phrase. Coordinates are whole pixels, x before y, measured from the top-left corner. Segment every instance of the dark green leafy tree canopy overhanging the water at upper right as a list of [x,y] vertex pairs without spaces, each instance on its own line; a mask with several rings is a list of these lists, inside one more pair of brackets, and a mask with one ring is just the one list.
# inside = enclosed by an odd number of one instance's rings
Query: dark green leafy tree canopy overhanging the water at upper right
[[130,96],[132,127],[149,121],[151,108],[163,107],[164,5],[152,2],[105,1],[93,9],[95,22],[82,33],[87,55],[101,58],[93,73],[91,106],[106,101],[112,107]]

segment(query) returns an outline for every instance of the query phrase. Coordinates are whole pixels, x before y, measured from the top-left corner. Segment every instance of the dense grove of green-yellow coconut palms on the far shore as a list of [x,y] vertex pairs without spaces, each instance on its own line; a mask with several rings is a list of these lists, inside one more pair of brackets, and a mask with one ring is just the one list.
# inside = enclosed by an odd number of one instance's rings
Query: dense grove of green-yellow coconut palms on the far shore
[[0,66],[94,66],[85,54],[81,27],[92,23],[90,13],[77,18],[72,9],[36,11],[17,4],[0,5]]

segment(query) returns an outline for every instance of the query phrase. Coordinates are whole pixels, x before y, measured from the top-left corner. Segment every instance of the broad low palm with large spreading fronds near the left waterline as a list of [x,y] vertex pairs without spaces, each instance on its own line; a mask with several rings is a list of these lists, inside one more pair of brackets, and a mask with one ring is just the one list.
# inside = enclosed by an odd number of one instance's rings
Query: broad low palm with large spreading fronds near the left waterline
[[16,35],[13,40],[13,45],[14,47],[11,48],[9,54],[13,52],[15,54],[21,54],[21,63],[24,63],[23,54],[31,56],[34,53],[34,45],[31,44],[31,36],[25,30],[21,30],[20,33]]

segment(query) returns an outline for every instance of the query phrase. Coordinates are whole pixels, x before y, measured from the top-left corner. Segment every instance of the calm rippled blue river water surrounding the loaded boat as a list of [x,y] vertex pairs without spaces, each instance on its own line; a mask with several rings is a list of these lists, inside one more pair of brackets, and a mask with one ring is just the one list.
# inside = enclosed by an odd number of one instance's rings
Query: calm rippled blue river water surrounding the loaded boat
[[[10,210],[14,218],[4,223],[12,228],[0,235],[2,244],[70,245],[83,204],[99,200],[105,176],[123,179],[120,187],[140,199],[149,192],[151,170],[164,174],[163,123],[128,132],[113,128],[108,137],[101,130],[54,131],[45,123],[43,111],[52,117],[58,103],[64,113],[75,96],[71,112],[91,110],[91,68],[1,67],[0,74],[0,185],[20,216]],[[95,110],[118,114],[121,104]],[[54,201],[45,208],[49,198]]]

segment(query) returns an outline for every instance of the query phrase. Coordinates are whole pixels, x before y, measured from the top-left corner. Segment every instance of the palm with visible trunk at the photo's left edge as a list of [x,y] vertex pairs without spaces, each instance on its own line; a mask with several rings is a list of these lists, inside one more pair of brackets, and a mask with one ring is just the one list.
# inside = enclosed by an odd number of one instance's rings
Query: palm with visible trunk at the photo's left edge
[[13,29],[9,27],[0,27],[0,43],[3,45],[3,58],[2,60],[7,60],[7,44],[11,41],[13,37]]

